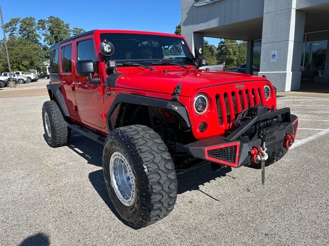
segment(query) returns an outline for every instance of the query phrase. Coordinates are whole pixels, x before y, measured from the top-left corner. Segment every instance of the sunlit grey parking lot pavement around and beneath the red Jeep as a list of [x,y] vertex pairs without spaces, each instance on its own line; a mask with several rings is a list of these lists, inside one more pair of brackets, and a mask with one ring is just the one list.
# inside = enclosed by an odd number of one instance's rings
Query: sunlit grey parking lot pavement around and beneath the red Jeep
[[46,144],[47,99],[0,99],[0,244],[329,244],[329,99],[278,98],[300,128],[295,147],[266,168],[265,187],[260,170],[198,168],[178,176],[173,212],[138,231],[114,213],[102,146],[78,134],[67,147]]

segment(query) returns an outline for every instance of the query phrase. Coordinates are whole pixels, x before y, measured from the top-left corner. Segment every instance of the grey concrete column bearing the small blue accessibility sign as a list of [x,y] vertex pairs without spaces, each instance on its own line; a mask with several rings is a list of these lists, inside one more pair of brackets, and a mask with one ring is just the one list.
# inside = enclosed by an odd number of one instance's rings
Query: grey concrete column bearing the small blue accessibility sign
[[[265,0],[261,67],[278,91],[299,90],[305,13],[296,10],[297,0]],[[276,59],[271,59],[276,51]]]

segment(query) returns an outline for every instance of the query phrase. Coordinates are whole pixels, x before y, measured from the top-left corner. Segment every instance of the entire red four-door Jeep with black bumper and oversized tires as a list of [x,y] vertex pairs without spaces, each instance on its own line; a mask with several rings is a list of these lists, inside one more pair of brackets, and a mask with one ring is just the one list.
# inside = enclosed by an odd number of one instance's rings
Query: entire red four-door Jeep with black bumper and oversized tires
[[89,31],[50,49],[50,100],[42,109],[51,147],[74,130],[104,145],[108,194],[122,219],[142,228],[167,216],[176,174],[211,163],[259,166],[281,159],[298,118],[277,110],[265,77],[200,70],[182,36]]

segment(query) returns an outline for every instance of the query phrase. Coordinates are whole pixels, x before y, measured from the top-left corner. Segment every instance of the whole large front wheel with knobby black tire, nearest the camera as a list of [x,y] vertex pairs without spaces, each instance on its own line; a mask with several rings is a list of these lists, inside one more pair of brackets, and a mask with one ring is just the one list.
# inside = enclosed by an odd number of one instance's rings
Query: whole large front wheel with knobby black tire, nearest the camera
[[[175,166],[167,146],[152,129],[134,125],[109,133],[103,172],[115,209],[132,228],[149,226],[173,210],[177,197]],[[125,186],[127,183],[130,185]]]

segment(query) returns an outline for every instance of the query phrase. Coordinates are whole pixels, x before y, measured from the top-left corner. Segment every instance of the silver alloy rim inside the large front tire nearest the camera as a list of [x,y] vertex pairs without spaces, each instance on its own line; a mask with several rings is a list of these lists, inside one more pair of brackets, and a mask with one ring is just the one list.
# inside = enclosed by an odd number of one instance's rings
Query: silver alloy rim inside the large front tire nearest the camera
[[133,169],[122,152],[116,151],[109,160],[111,185],[120,202],[131,206],[136,199],[136,180]]

